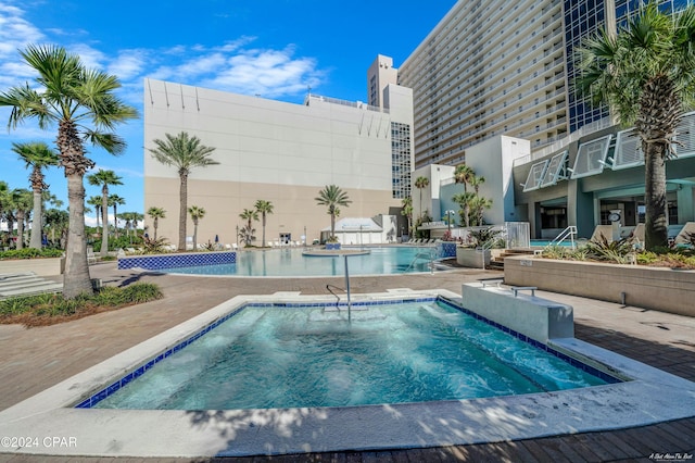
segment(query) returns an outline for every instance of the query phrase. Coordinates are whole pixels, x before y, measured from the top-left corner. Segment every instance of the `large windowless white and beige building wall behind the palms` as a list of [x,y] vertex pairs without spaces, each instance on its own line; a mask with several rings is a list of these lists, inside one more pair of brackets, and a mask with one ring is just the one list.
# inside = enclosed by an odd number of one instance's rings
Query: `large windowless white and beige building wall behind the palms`
[[[339,186],[353,201],[341,208],[343,214],[374,216],[400,203],[391,195],[390,121],[388,113],[366,105],[320,97],[302,105],[148,79],[146,211],[152,205],[167,211],[159,236],[176,242],[178,173],[156,162],[148,148],[165,134],[187,132],[215,147],[212,158],[219,162],[194,168],[189,176],[188,204],[207,211],[200,221],[199,241],[216,234],[225,242],[237,241],[236,227],[244,224],[239,214],[263,199],[275,205],[267,216],[266,240],[280,233],[291,233],[296,240],[306,227],[311,242],[330,223],[326,208],[315,201],[326,185]],[[261,224],[255,228],[261,245]]]

